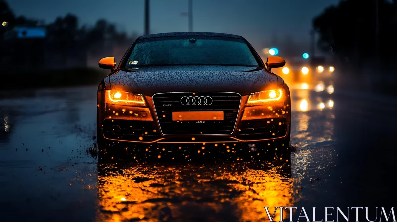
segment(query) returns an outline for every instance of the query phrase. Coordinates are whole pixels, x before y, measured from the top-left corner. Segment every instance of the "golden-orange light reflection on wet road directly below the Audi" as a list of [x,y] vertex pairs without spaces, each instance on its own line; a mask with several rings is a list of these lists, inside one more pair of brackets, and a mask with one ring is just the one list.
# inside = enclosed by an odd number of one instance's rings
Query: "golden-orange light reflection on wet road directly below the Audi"
[[264,220],[264,206],[296,198],[290,165],[282,163],[99,164],[97,220]]

